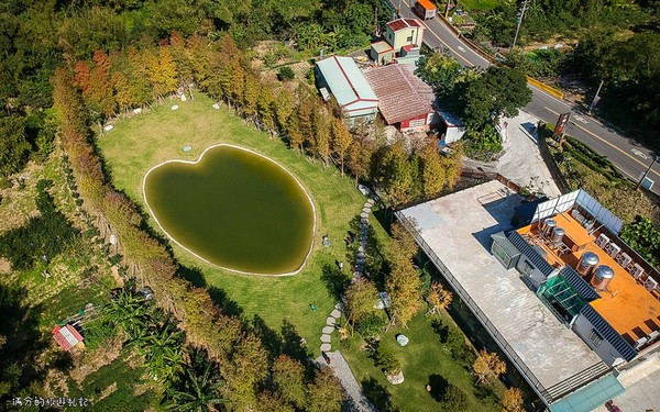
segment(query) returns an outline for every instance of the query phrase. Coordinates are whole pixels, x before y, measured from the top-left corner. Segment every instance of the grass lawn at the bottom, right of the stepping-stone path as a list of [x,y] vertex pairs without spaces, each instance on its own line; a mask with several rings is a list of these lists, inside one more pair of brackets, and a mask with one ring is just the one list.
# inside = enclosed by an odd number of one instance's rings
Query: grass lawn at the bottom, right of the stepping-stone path
[[[364,392],[367,397],[369,393],[373,393],[381,400],[387,399],[385,391],[388,392],[392,403],[376,405],[382,412],[397,409],[402,412],[442,411],[440,403],[427,392],[426,386],[430,383],[435,389],[449,382],[466,393],[469,405],[465,411],[499,410],[498,401],[494,396],[483,391],[483,388],[479,388],[482,389],[482,393],[477,393],[480,390],[474,387],[475,378],[468,372],[462,361],[451,357],[440,342],[439,335],[431,326],[435,318],[438,316],[427,318],[420,313],[408,324],[408,329],[392,329],[381,336],[381,345],[392,349],[402,363],[405,381],[397,386],[387,382],[385,375],[374,366],[373,359],[364,349],[364,341],[358,334],[341,343],[341,353]],[[443,314],[441,318],[443,323],[453,324],[449,315]],[[400,347],[395,341],[399,333],[410,339],[405,347]],[[497,381],[493,386],[493,391],[501,394],[504,386]]]

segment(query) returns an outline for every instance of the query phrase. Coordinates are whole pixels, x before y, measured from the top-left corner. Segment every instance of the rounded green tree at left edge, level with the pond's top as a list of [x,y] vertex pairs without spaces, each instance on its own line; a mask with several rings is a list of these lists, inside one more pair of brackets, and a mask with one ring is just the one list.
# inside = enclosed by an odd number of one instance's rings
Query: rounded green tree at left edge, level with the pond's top
[[24,120],[18,115],[0,116],[0,175],[7,177],[20,171],[31,149]]

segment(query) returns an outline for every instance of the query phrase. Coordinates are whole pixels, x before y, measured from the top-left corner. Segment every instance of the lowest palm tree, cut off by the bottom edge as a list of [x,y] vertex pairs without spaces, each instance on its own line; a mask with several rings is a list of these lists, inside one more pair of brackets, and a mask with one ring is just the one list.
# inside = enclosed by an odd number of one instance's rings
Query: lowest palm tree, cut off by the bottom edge
[[167,394],[168,411],[217,411],[228,400],[220,397],[219,390],[224,385],[217,365],[210,360],[206,352],[188,350],[189,363],[186,372],[176,389]]

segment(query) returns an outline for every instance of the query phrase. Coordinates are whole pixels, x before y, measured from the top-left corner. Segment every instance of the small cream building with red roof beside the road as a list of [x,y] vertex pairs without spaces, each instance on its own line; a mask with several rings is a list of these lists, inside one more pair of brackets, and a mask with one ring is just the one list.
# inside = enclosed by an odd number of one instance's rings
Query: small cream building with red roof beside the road
[[418,19],[397,19],[385,25],[384,40],[372,43],[371,58],[387,65],[399,56],[418,53],[424,41],[425,25]]

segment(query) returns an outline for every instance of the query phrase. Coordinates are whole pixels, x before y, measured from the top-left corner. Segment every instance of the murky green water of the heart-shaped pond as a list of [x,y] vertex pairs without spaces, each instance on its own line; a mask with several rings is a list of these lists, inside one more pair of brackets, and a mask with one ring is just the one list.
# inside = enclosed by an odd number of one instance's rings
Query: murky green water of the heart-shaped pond
[[314,210],[298,182],[240,148],[218,146],[197,164],[162,165],[146,176],[144,193],[170,237],[218,266],[285,274],[311,246]]

